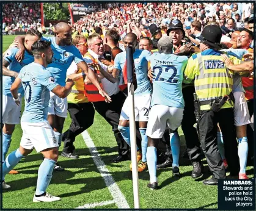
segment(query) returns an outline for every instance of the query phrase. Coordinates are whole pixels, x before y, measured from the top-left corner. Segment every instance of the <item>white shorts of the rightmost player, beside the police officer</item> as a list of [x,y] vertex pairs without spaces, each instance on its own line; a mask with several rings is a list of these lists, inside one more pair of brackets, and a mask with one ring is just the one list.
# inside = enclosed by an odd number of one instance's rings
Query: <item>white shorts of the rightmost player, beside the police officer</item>
[[242,126],[251,123],[251,117],[248,110],[248,105],[243,91],[236,91],[234,94],[234,118],[235,126]]

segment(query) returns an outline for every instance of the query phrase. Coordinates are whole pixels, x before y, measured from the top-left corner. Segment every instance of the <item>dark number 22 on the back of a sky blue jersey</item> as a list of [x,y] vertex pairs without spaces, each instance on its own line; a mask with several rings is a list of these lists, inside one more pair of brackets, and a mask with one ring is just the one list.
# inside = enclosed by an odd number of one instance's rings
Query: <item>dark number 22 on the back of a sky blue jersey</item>
[[[174,79],[177,75],[177,69],[175,66],[168,65],[168,66],[153,66],[153,73],[156,74],[155,80],[165,81],[167,83],[177,84],[178,79]],[[167,74],[164,74],[167,73]],[[170,74],[172,74],[170,77]]]

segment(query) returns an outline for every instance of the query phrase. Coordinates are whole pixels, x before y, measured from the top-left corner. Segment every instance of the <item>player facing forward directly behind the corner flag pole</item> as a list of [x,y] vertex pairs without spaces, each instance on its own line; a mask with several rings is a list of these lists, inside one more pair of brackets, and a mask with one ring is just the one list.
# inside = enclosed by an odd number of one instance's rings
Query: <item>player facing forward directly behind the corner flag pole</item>
[[[147,77],[148,61],[147,58],[151,55],[149,51],[135,49],[137,46],[136,34],[130,32],[125,35],[123,42],[126,46],[133,46],[133,59],[137,78],[137,89],[134,91],[134,109],[135,120],[139,121],[139,131],[141,133],[141,154],[137,153],[137,162],[142,159],[142,162],[138,165],[138,171],[144,171],[147,168],[146,152],[147,152],[147,136],[145,135],[147,129],[148,112],[150,107],[150,98],[152,93],[152,86],[150,80]],[[125,67],[126,52],[120,52],[115,57],[114,70],[112,75],[114,77],[123,76],[123,69]],[[130,127],[129,127],[129,101],[126,98],[123,104],[122,112],[120,115],[119,130],[123,136],[123,139],[130,146]],[[131,165],[130,165],[131,168]]]

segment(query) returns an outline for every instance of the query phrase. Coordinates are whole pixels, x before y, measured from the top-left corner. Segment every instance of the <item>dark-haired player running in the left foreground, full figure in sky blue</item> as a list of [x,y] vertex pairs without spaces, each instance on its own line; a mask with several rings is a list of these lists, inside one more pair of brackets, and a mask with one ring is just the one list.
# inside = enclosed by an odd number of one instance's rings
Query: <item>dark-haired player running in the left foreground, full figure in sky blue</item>
[[10,89],[13,99],[18,105],[20,104],[18,87],[22,84],[24,88],[25,109],[21,118],[23,136],[20,148],[11,152],[2,166],[2,188],[10,188],[10,185],[4,182],[5,174],[35,148],[37,152],[43,154],[45,159],[38,170],[37,188],[33,201],[53,202],[59,201],[60,198],[46,193],[46,188],[51,181],[53,168],[58,159],[59,145],[53,129],[47,121],[49,91],[59,98],[66,98],[73,86],[73,80],[67,80],[65,87],[61,87],[53,75],[46,70],[46,66],[52,62],[53,58],[51,42],[39,40],[32,45],[31,49],[35,62],[21,69]]

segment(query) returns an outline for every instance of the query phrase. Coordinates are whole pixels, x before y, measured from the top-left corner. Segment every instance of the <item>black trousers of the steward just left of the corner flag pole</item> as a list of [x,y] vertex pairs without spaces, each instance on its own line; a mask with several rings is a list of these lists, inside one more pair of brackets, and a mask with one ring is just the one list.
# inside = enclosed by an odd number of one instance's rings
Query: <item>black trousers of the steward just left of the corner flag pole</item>
[[100,113],[103,118],[108,121],[112,126],[112,131],[114,132],[115,140],[118,145],[119,156],[128,156],[130,157],[130,146],[127,145],[126,141],[123,140],[123,137],[118,129],[120,113],[125,102],[126,96],[119,91],[116,95],[111,96],[112,102],[93,102],[95,110]]

